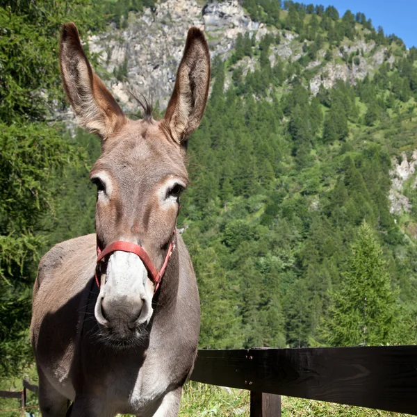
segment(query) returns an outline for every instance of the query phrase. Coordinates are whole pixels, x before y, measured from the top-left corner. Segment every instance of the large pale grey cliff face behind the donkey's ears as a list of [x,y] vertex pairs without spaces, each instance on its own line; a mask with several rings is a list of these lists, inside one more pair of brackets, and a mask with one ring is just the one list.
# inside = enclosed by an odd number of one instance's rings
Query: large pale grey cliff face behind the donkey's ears
[[[111,26],[106,33],[88,38],[90,51],[101,56],[101,66],[111,74],[108,86],[125,111],[136,111],[129,90],[141,92],[165,108],[181,60],[188,28],[206,31],[211,55],[227,58],[238,33],[259,31],[261,24],[247,16],[237,0],[208,3],[195,0],[167,0],[157,3],[154,13],[130,15],[128,27]],[[264,29],[265,31],[265,29]],[[266,33],[266,31],[265,31]],[[117,81],[113,70],[127,60],[127,79]]]

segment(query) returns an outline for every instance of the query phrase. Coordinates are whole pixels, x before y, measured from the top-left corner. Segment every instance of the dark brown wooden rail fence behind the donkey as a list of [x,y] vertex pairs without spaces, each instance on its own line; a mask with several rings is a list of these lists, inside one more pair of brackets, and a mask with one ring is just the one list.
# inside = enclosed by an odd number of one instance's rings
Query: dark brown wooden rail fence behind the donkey
[[[280,395],[417,415],[417,346],[199,350],[191,379],[251,391],[251,417],[280,416]],[[0,391],[22,413],[23,386]]]

